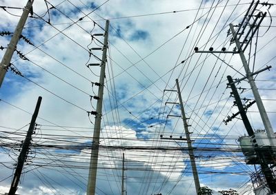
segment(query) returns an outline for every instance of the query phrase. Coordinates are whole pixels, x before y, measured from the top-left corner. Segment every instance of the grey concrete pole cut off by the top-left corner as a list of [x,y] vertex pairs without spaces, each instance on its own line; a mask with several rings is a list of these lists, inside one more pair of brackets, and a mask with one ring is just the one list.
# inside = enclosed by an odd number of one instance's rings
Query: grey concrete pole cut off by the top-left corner
[[20,39],[23,27],[28,18],[28,14],[32,8],[32,3],[34,3],[34,0],[28,0],[28,3],[26,5],[26,7],[24,8],[23,14],[21,15],[21,18],[19,19],[19,22],[17,24],[17,28],[15,28],[15,30],[14,30],[12,39],[10,39],[10,44],[8,45],[8,48],[7,48],[7,50],[3,56],[3,59],[0,63],[0,88],[3,83],[3,79],[6,75],[6,72],[8,71],[8,67],[10,66],[12,54],[14,53],[14,50],[17,48],[17,43]]

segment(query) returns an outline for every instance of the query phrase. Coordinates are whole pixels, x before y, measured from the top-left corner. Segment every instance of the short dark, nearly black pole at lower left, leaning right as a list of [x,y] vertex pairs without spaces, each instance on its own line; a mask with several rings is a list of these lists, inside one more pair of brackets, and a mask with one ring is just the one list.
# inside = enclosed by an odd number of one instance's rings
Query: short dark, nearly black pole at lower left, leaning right
[[41,104],[41,96],[37,100],[37,105],[34,110],[34,114],[32,114],[32,120],[30,121],[30,126],[27,132],[27,136],[25,141],[23,142],[22,150],[19,154],[18,161],[17,161],[17,168],[14,172],[14,177],[12,178],[12,185],[10,186],[10,192],[8,195],[14,195],[17,192],[17,185],[20,180],[21,172],[23,170],[24,162],[27,158],[28,150],[30,149],[30,141],[32,140],[32,133],[34,132],[34,125],[35,120],[37,119],[37,115],[39,114],[39,107]]

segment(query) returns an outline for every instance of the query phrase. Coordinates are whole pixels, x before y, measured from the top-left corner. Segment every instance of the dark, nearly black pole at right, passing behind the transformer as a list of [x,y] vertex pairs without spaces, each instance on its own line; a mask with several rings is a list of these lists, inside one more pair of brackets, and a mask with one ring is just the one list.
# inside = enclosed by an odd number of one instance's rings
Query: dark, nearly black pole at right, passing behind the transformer
[[[253,137],[254,132],[250,125],[250,122],[246,116],[246,112],[244,110],[244,106],[242,105],[242,101],[239,97],[239,93],[237,92],[237,88],[235,86],[235,83],[233,82],[233,79],[231,76],[227,76],[228,79],[228,85],[230,85],[230,88],[232,89],[237,107],[239,109],[239,114],[242,116],[242,121],[244,122],[244,126],[246,127],[246,131],[249,136]],[[276,181],[273,176],[272,170],[270,170],[270,167],[268,167],[268,163],[266,162],[266,158],[268,158],[268,155],[265,153],[266,150],[262,150],[258,145],[254,145],[254,150],[257,154],[257,158],[259,158],[259,162],[256,164],[260,164],[262,168],[262,172],[264,174],[264,177],[266,178],[266,182],[268,183],[268,187],[270,189],[270,192],[276,193]]]

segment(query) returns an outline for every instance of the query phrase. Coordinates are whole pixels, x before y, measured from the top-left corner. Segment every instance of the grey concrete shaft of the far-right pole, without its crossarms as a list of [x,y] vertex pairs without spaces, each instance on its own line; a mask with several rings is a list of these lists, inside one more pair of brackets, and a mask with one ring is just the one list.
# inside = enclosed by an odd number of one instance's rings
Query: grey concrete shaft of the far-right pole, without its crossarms
[[233,24],[230,23],[229,26],[230,26],[230,30],[233,34],[233,38],[234,38],[234,41],[237,46],[237,51],[239,52],[239,57],[241,58],[242,64],[244,65],[244,70],[246,71],[246,76],[248,78],[248,82],[250,84],[255,101],[257,103],[257,107],[259,109],[259,114],[261,115],[262,121],[264,123],[264,128],[265,128],[268,138],[270,140],[270,144],[271,144],[271,146],[275,146],[275,143],[274,143],[275,135],[273,132],[273,128],[268,119],[268,115],[266,114],[266,109],[264,108],[264,104],[262,102],[261,96],[259,95],[259,91],[257,90],[257,86],[255,84],[253,74],[252,74],[252,72],[250,72],[249,65],[246,61],[246,57],[244,56],[244,50],[242,50],[241,45],[239,43],[239,39],[237,39],[237,34],[234,30]]

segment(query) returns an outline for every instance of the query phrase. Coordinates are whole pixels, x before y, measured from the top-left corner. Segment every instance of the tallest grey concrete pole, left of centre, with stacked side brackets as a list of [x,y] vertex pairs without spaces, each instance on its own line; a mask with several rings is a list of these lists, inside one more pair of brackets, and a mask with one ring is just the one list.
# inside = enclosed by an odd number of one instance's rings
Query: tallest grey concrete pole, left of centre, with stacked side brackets
[[104,34],[103,41],[103,56],[101,59],[101,73],[99,77],[99,90],[97,100],[97,114],[95,116],[94,134],[92,140],[92,150],[90,158],[90,168],[88,174],[88,185],[87,185],[87,195],[94,195],[96,188],[96,177],[97,177],[97,165],[98,165],[98,154],[99,154],[99,134],[101,130],[101,108],[103,105],[103,85],[104,77],[106,76],[106,52],[108,49],[108,27],[109,21],[106,21],[106,32]]

